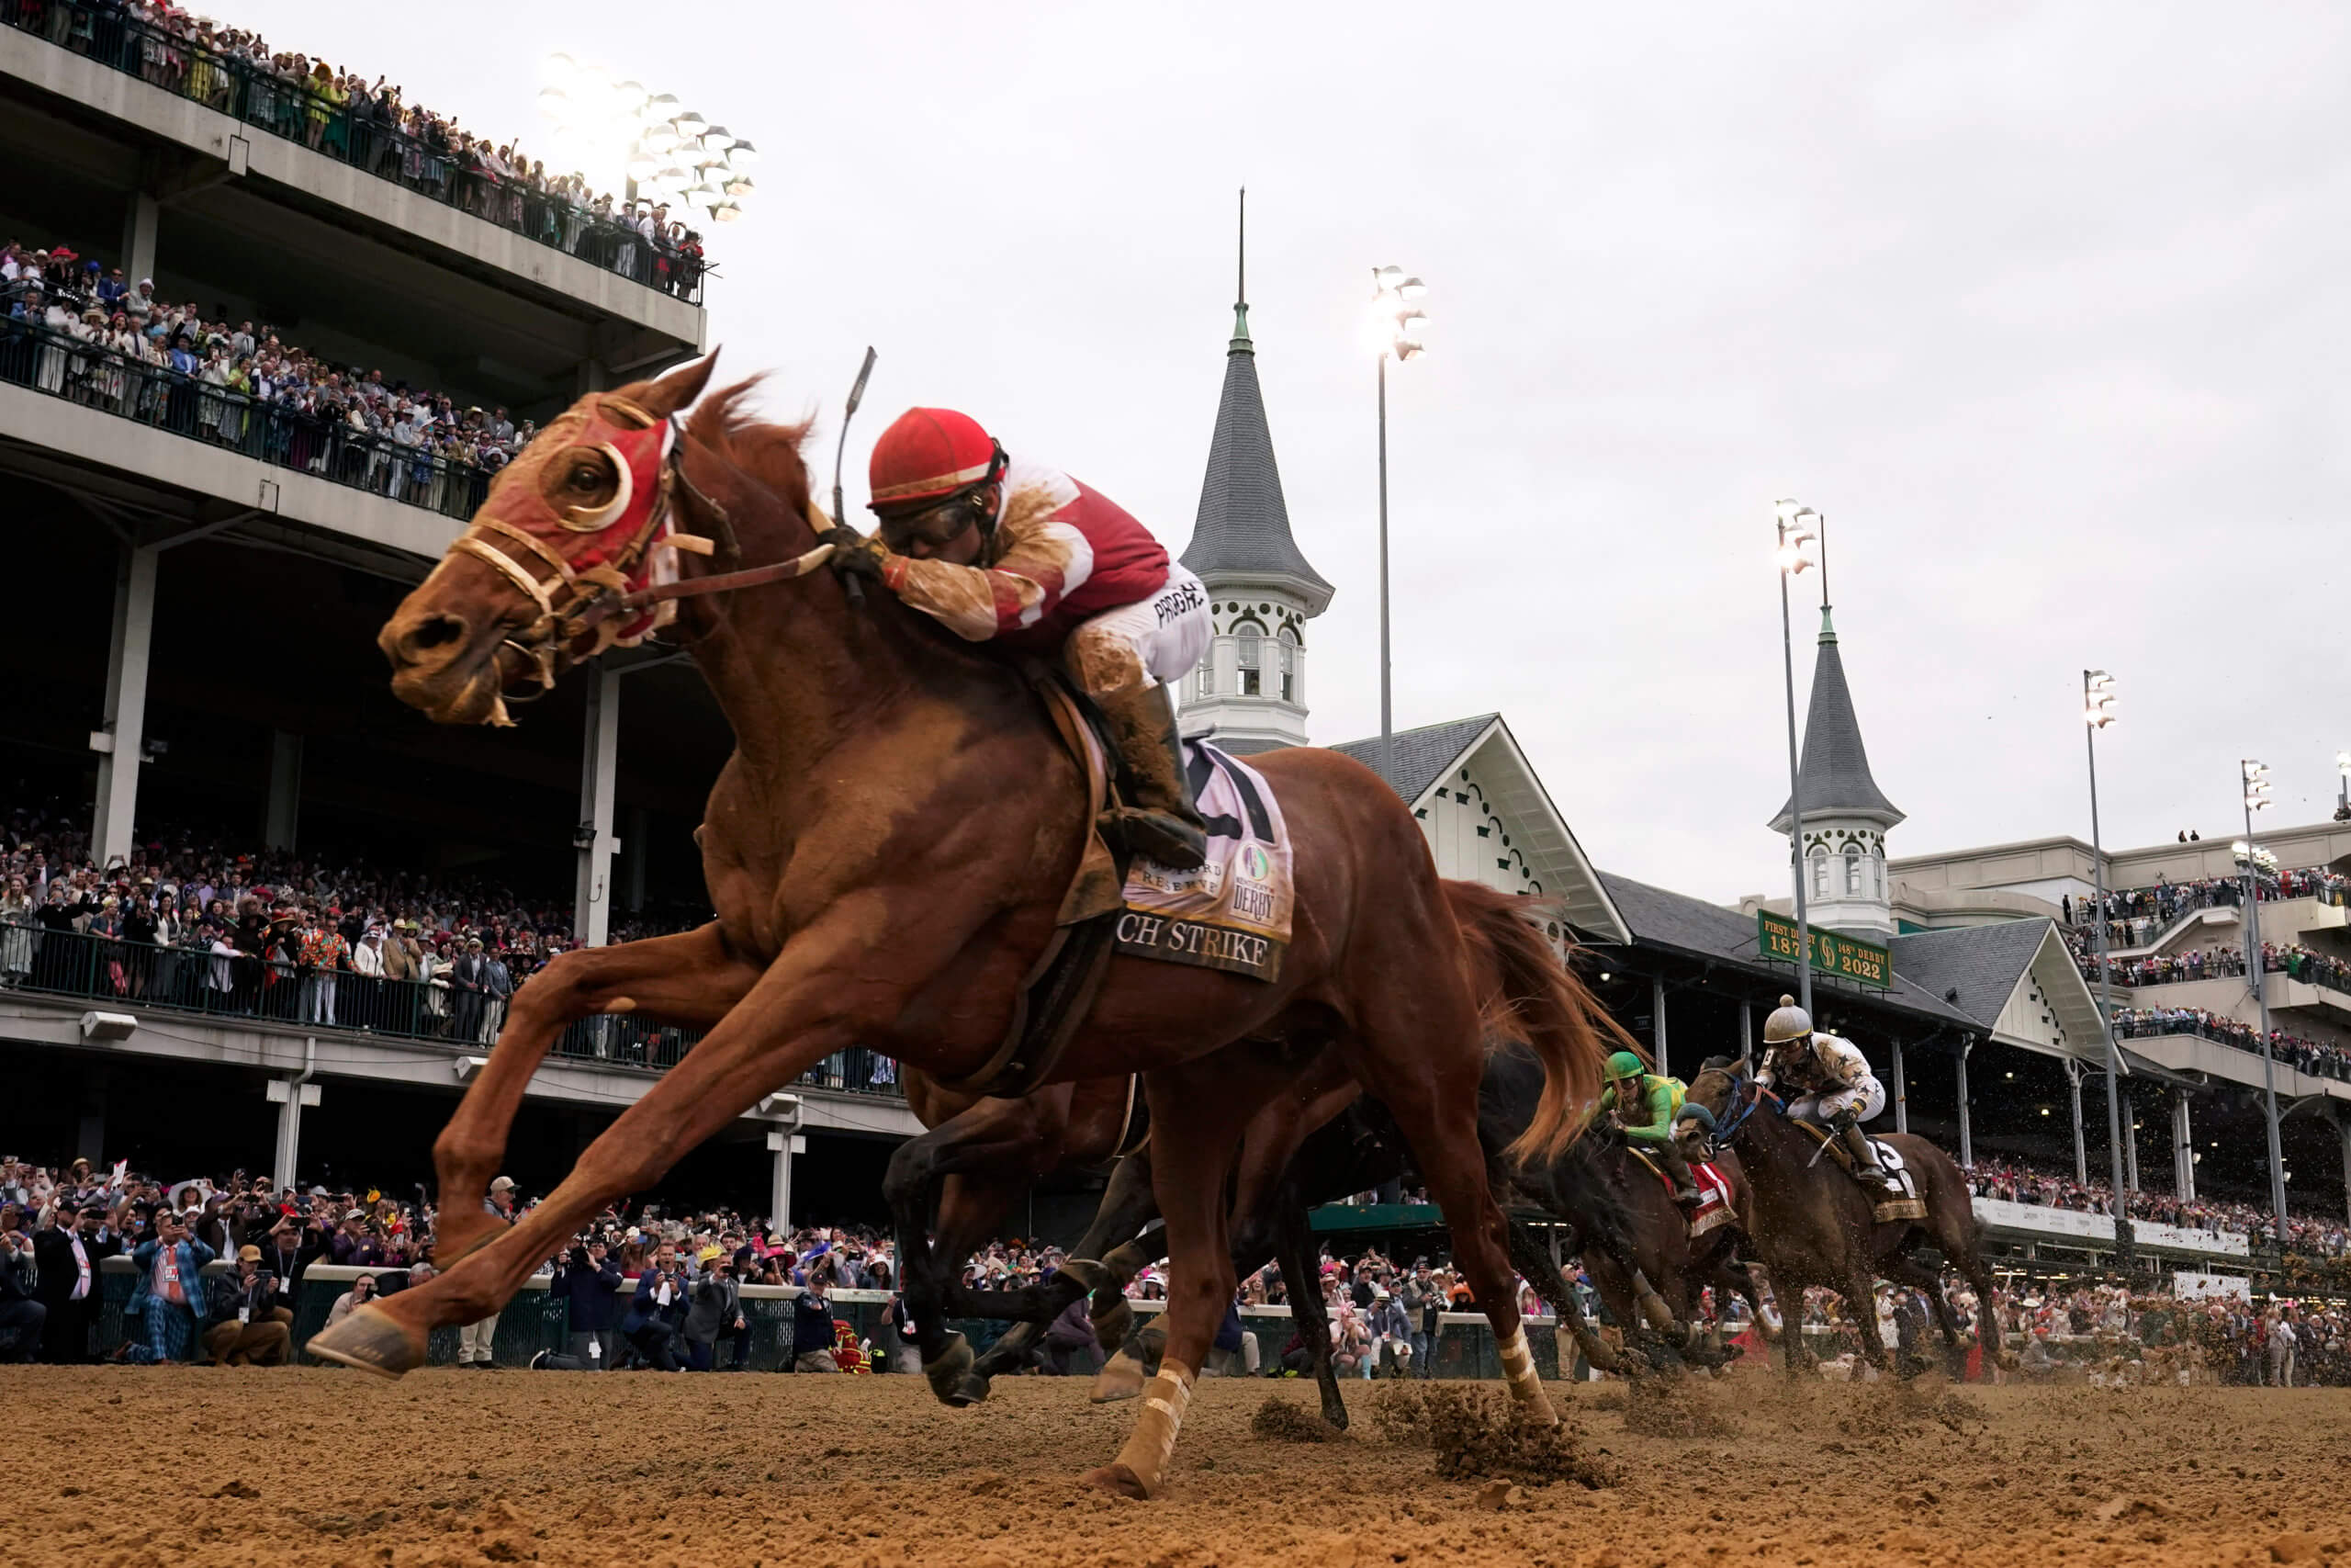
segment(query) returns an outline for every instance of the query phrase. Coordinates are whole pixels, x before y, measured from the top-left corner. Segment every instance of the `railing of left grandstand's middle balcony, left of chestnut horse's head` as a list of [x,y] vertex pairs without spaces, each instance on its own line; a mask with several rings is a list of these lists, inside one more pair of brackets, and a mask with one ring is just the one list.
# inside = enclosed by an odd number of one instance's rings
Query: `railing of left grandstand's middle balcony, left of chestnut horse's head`
[[24,320],[7,322],[0,336],[0,381],[458,522],[470,520],[489,494],[487,468],[303,409],[256,402],[235,388]]

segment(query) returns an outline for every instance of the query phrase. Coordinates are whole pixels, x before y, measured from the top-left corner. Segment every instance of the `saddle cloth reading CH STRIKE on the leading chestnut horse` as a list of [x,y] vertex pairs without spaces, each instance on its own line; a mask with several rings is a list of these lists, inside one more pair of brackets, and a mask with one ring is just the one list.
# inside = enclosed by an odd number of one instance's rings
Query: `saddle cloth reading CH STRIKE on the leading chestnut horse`
[[1298,898],[1281,802],[1258,769],[1206,741],[1185,741],[1185,776],[1208,825],[1208,863],[1180,872],[1138,856],[1117,952],[1274,980]]

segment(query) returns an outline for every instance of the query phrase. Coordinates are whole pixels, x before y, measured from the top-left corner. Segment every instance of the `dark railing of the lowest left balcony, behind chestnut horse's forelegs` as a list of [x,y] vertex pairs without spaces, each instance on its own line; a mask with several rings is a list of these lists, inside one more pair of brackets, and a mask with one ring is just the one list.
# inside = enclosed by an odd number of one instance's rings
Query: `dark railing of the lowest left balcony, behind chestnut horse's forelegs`
[[[505,999],[461,990],[447,976],[388,980],[348,969],[308,969],[197,947],[158,947],[80,931],[0,924],[0,990],[73,997],[127,1013],[172,1011],[219,1023],[270,1023],[353,1037],[411,1039],[487,1051],[505,1023]],[[701,1039],[637,1013],[597,1013],[564,1030],[550,1060],[668,1072]],[[898,1098],[896,1063],[865,1048],[811,1067],[802,1088]]]

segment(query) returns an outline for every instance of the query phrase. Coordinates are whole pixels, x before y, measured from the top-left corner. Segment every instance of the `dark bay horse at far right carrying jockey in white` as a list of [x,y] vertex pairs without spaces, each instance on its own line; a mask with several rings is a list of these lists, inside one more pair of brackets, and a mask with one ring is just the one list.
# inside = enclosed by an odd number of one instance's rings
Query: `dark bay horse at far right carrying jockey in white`
[[1942,1279],[1911,1255],[1921,1241],[1933,1241],[1975,1286],[1977,1342],[1987,1359],[2001,1354],[1984,1227],[1949,1154],[1925,1138],[1886,1133],[1881,1143],[1902,1154],[1918,1185],[1925,1220],[1878,1222],[1862,1185],[1831,1159],[1815,1161],[1820,1140],[1782,1114],[1780,1098],[1754,1081],[1744,1060],[1709,1060],[1690,1081],[1690,1100],[1714,1114],[1723,1145],[1740,1154],[1747,1173],[1751,1197],[1742,1204],[1742,1222],[1780,1298],[1780,1340],[1789,1371],[1810,1356],[1801,1333],[1803,1286],[1843,1295],[1846,1314],[1862,1335],[1862,1352],[1878,1371],[1893,1371],[1871,1298],[1871,1284],[1881,1276],[1925,1293],[1942,1340],[1956,1354],[1958,1319],[1944,1300]]

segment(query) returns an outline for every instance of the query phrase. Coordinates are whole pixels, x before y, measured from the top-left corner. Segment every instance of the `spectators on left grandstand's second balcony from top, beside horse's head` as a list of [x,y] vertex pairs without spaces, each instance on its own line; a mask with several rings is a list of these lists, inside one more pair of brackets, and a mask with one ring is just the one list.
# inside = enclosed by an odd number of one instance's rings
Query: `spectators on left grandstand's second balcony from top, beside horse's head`
[[393,501],[473,515],[538,433],[155,294],[71,244],[0,249],[0,378]]

